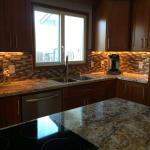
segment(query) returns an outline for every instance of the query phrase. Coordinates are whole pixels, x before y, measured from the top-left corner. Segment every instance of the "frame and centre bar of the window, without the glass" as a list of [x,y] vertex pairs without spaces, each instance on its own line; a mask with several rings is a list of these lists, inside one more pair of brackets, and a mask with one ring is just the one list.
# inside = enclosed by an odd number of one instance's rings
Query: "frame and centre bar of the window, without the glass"
[[82,61],[69,61],[70,65],[82,65],[86,63],[87,59],[87,44],[88,44],[88,13],[83,13],[83,12],[78,12],[74,10],[68,10],[65,8],[56,8],[56,7],[50,7],[47,5],[37,5],[33,4],[32,7],[33,10],[33,16],[34,16],[34,11],[44,11],[44,12],[49,12],[49,13],[54,13],[54,14],[59,14],[60,16],[60,62],[46,62],[46,63],[37,63],[36,62],[36,36],[35,36],[35,21],[33,17],[33,35],[34,35],[34,66],[35,67],[50,67],[50,66],[62,66],[65,65],[65,50],[64,50],[64,45],[65,45],[65,15],[67,16],[74,16],[74,17],[82,17],[84,18],[84,50],[83,50],[83,60]]

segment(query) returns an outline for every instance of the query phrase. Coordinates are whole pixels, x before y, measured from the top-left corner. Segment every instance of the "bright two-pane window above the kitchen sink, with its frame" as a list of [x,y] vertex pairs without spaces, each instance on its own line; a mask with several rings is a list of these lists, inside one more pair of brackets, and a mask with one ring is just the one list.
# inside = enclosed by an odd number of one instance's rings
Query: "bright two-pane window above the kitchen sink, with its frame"
[[36,66],[84,63],[86,16],[34,7]]

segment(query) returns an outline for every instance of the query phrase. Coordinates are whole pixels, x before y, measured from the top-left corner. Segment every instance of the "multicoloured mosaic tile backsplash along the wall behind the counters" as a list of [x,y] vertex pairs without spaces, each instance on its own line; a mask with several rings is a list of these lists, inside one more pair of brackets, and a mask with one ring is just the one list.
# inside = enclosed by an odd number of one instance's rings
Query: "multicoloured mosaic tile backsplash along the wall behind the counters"
[[[75,76],[79,72],[107,71],[109,54],[110,52],[97,53],[88,51],[87,63],[69,66],[69,75]],[[122,72],[148,74],[150,53],[120,52],[118,54],[120,55],[120,70]],[[33,69],[32,60],[31,53],[23,53],[22,55],[0,53],[0,68],[7,69],[9,65],[15,65],[16,71],[10,76],[12,81],[61,77],[65,73],[65,67],[41,67],[35,70]],[[91,67],[91,61],[93,61],[94,67]],[[139,69],[139,62],[143,62],[142,69]],[[1,70],[0,72],[2,74]]]

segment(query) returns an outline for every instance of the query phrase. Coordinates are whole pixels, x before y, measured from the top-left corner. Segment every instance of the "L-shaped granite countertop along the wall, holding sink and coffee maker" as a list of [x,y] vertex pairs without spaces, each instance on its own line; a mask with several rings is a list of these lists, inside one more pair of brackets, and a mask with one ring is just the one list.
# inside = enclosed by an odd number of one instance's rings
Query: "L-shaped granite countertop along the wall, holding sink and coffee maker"
[[107,75],[104,72],[96,72],[86,74],[86,76],[92,77],[91,80],[61,83],[50,79],[34,79],[11,82],[9,84],[0,84],[0,97],[28,94],[32,92],[39,92],[44,90],[54,90],[63,87],[82,85],[86,83],[97,82],[101,80],[121,79],[127,81],[134,81],[138,83],[146,84],[148,82],[148,76],[124,73],[122,75]]

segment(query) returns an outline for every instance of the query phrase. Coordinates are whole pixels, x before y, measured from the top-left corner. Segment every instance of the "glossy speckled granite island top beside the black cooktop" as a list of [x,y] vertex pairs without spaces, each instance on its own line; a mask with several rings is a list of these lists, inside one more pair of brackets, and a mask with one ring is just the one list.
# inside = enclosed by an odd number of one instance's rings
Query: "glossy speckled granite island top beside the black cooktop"
[[99,150],[150,149],[150,107],[141,104],[110,99],[54,114],[52,118]]

